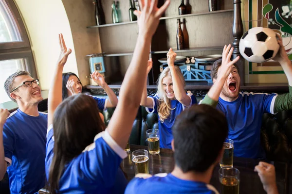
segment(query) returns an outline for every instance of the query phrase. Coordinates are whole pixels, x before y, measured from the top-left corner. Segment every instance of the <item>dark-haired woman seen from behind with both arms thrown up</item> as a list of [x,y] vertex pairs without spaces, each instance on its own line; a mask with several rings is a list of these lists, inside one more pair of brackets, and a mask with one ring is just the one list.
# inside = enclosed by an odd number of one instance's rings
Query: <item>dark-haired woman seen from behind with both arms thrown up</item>
[[61,54],[48,98],[46,175],[49,191],[78,194],[124,193],[127,184],[119,165],[142,96],[152,36],[159,18],[169,5],[157,8],[157,1],[141,2],[139,35],[124,81],[119,103],[106,130],[98,116],[96,102],[87,95],[73,95],[62,102],[62,71],[71,49],[59,35]]

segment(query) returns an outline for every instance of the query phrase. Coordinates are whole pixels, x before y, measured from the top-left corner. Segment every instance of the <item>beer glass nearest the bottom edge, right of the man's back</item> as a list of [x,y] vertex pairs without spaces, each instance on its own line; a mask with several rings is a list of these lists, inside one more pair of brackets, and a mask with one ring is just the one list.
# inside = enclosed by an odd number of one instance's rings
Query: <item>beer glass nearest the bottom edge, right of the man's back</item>
[[219,180],[221,194],[239,194],[239,170],[236,168],[220,168]]

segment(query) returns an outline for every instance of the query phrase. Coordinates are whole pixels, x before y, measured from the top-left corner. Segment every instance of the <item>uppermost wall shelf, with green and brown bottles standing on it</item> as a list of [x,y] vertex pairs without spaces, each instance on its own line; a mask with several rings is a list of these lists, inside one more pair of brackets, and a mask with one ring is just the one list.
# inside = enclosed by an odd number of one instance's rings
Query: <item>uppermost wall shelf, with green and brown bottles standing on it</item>
[[[202,15],[209,15],[209,14],[219,14],[219,13],[225,13],[225,12],[233,12],[233,9],[219,10],[219,11],[214,11],[214,12],[202,12],[202,13],[196,13],[196,14],[185,14],[185,15],[180,15],[180,16],[167,16],[167,17],[161,17],[160,20],[186,18],[186,17],[191,17],[191,16],[202,16]],[[104,24],[104,25],[99,25],[99,26],[88,26],[87,28],[102,28],[102,27],[134,24],[134,23],[137,23],[137,21],[127,21],[127,22],[121,22],[121,23],[115,23],[115,24]]]

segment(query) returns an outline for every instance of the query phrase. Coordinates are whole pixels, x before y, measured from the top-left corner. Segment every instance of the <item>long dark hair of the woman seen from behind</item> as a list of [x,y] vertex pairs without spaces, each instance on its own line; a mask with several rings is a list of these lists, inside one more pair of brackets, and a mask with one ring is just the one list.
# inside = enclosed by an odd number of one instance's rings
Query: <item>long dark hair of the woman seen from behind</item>
[[97,104],[88,95],[68,97],[57,107],[53,120],[54,157],[48,180],[50,194],[58,192],[65,164],[80,155],[105,129]]

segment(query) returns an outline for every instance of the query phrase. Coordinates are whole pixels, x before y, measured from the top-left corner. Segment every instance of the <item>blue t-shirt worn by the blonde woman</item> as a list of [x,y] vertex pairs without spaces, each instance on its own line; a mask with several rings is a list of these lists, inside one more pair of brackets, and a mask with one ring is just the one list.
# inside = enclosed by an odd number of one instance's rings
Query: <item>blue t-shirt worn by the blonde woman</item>
[[[195,96],[193,96],[192,93],[187,93],[187,95],[191,98],[191,103],[189,105],[189,107],[193,104],[197,103],[197,99]],[[146,111],[148,113],[158,113],[158,106],[160,103],[159,97],[157,95],[155,96],[149,96],[152,101],[153,101],[153,107],[154,109],[148,109],[146,108]],[[164,120],[164,122],[162,122],[160,119],[158,119],[158,128],[159,128],[159,133],[160,133],[160,147],[161,148],[168,148],[171,149],[171,141],[173,139],[172,136],[172,126],[174,124],[175,118],[187,107],[183,106],[182,103],[180,103],[178,100],[171,100],[170,101],[171,104],[171,109],[170,110],[170,116]],[[159,115],[158,115],[159,117]]]

